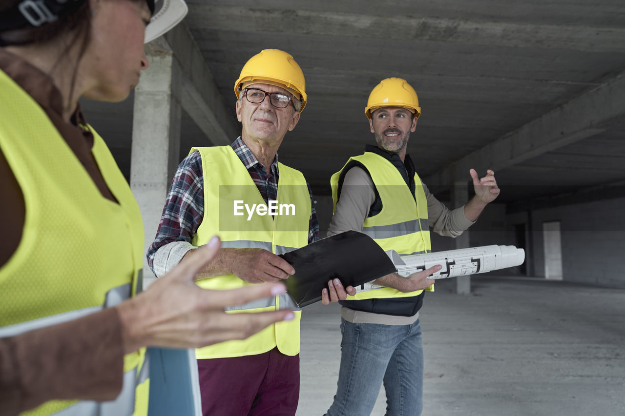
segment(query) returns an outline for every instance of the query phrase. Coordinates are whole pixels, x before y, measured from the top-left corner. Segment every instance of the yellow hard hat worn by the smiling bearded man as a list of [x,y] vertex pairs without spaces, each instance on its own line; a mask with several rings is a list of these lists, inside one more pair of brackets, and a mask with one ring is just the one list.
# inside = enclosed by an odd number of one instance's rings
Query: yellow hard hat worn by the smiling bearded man
[[386,78],[372,89],[364,114],[371,120],[371,113],[380,107],[404,107],[409,109],[417,119],[421,116],[419,97],[414,88],[405,79]]

